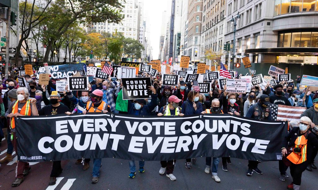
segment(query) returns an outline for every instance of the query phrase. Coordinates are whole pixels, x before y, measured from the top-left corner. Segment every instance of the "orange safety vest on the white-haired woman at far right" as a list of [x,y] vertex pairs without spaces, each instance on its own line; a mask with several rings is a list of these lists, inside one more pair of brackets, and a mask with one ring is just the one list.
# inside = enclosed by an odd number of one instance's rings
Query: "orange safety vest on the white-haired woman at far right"
[[[307,133],[307,135],[309,132]],[[301,164],[307,160],[307,135],[301,135],[295,140],[295,147],[293,152],[287,156],[287,159],[293,162],[294,164]],[[295,152],[295,149],[301,149],[300,152]]]

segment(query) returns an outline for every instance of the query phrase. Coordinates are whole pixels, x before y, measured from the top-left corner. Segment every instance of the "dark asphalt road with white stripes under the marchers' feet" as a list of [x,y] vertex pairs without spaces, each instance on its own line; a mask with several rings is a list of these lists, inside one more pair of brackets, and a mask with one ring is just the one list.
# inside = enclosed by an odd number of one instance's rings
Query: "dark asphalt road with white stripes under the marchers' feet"
[[[1,150],[6,149],[5,140],[2,141]],[[0,159],[5,156],[5,152],[0,153]],[[14,155],[14,157],[16,154]],[[318,159],[318,158],[317,158]],[[16,190],[79,190],[79,189],[286,189],[292,182],[292,178],[280,181],[278,162],[262,162],[259,169],[262,175],[253,173],[252,176],[245,175],[247,170],[247,160],[232,158],[232,164],[228,165],[229,171],[222,170],[221,161],[219,163],[218,176],[220,183],[215,182],[210,174],[204,173],[205,158],[197,158],[197,163],[192,164],[192,169],[186,169],[185,160],[177,160],[173,174],[176,181],[171,181],[166,175],[159,175],[160,162],[146,162],[145,173],[138,173],[135,178],[128,178],[129,166],[127,160],[114,158],[102,159],[100,169],[100,181],[91,183],[93,160],[88,170],[83,170],[82,165],[75,165],[75,160],[63,161],[63,173],[58,178],[55,186],[48,186],[52,163],[39,162],[31,165],[28,176],[24,182],[15,188],[11,188],[11,183],[15,179],[16,163],[4,163],[0,167],[0,189]],[[136,162],[138,169],[138,162]],[[318,165],[318,164],[317,164]],[[289,169],[287,174],[290,176]],[[312,172],[305,171],[302,175],[301,189],[318,189],[318,170]]]

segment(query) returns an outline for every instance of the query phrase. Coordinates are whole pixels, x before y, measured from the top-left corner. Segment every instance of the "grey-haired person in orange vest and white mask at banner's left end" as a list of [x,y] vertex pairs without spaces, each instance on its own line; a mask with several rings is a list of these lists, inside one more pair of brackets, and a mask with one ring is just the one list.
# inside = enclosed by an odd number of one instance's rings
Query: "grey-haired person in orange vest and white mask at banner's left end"
[[[36,99],[29,99],[29,90],[25,87],[17,89],[17,100],[13,101],[5,113],[6,118],[10,118],[11,140],[14,149],[17,152],[17,140],[14,117],[38,115]],[[20,126],[23,127],[23,126]],[[12,183],[12,187],[17,187],[23,182],[23,177],[29,174],[28,162],[18,161],[16,179]]]

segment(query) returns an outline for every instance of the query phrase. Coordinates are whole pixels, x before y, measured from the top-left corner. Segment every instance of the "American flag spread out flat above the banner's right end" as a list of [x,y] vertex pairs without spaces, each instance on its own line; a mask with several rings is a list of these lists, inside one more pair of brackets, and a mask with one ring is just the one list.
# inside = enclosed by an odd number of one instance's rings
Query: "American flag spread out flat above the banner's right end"
[[299,120],[301,113],[306,110],[306,107],[294,107],[294,106],[285,106],[278,104],[270,104],[269,107],[272,111],[273,120],[284,120],[288,121]]

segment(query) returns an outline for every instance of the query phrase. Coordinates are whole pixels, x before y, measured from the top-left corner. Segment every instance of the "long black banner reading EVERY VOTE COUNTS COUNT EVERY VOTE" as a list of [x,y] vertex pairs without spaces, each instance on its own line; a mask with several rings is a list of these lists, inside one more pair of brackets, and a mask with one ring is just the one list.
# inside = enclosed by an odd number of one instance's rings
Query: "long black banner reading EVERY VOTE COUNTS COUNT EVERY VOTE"
[[[35,125],[35,123],[37,125]],[[281,159],[287,122],[229,114],[135,116],[88,113],[15,118],[18,160],[159,161],[200,156]]]

